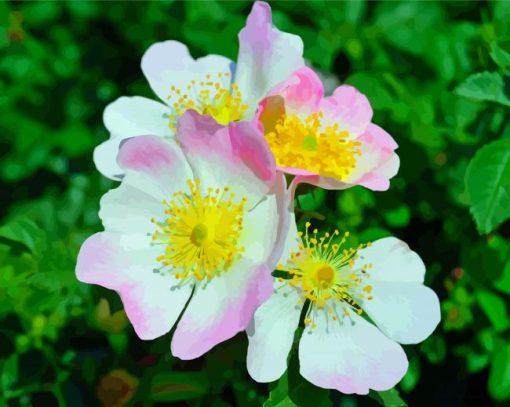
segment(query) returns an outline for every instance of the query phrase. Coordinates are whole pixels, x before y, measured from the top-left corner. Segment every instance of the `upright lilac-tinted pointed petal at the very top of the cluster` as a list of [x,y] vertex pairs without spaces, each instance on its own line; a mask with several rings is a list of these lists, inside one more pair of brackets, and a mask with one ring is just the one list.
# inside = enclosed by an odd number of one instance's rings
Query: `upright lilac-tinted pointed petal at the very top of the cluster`
[[257,1],[239,32],[235,82],[252,115],[260,100],[276,84],[304,65],[303,41],[273,27],[271,7]]

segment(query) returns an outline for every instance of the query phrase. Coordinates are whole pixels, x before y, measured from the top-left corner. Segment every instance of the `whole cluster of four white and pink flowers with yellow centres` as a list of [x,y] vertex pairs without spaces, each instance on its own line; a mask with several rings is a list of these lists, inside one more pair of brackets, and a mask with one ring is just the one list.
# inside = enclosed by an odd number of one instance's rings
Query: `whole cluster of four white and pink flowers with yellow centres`
[[277,380],[302,326],[303,377],[343,393],[386,390],[408,367],[400,344],[432,333],[439,301],[396,238],[350,247],[348,233],[297,231],[299,183],[386,190],[399,166],[367,98],[346,85],[325,97],[302,51],[263,2],[239,33],[237,63],[152,45],[142,70],[165,103],[122,97],[106,108],[111,137],[94,160],[120,186],[101,199],[105,231],[85,241],[76,272],[119,293],[140,338],[176,325],[181,359],[246,331],[250,375]]

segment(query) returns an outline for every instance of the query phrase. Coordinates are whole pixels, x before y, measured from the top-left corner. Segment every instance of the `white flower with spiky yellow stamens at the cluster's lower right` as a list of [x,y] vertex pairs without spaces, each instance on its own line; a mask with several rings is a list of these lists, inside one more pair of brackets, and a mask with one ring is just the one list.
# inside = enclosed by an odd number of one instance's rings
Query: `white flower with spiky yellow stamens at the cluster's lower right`
[[290,231],[278,265],[287,278],[275,280],[273,296],[247,329],[250,375],[270,382],[285,372],[306,306],[299,341],[304,378],[346,394],[392,388],[408,368],[400,344],[423,341],[440,320],[439,300],[423,285],[422,260],[393,237],[345,249],[348,234],[308,227],[298,240]]

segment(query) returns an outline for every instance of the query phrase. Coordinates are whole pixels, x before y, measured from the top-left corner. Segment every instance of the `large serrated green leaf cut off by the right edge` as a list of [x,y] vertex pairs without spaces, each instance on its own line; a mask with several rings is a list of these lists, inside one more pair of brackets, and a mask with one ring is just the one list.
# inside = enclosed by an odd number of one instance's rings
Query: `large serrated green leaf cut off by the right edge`
[[510,218],[510,139],[478,150],[466,170],[465,185],[481,233]]

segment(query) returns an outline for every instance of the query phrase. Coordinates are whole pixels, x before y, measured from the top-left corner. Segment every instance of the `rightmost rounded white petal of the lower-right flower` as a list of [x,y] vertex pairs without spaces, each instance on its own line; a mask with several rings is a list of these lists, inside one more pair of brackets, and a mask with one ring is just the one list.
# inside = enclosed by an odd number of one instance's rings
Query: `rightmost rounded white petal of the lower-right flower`
[[428,338],[441,320],[439,299],[421,284],[373,281],[374,297],[363,309],[389,338],[415,344]]

